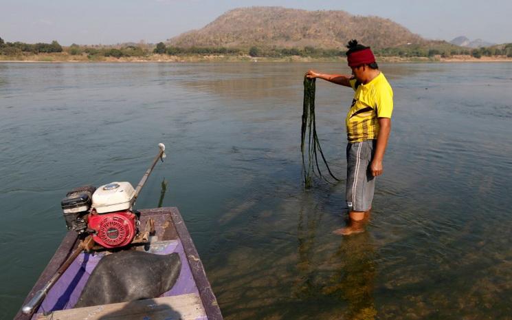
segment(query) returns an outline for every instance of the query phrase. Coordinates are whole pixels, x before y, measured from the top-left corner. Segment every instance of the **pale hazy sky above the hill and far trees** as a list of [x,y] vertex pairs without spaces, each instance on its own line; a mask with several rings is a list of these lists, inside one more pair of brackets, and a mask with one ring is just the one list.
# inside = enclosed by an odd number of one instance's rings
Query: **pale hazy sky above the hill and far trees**
[[0,0],[0,37],[62,45],[157,43],[247,6],[345,10],[392,19],[427,39],[512,42],[512,0]]

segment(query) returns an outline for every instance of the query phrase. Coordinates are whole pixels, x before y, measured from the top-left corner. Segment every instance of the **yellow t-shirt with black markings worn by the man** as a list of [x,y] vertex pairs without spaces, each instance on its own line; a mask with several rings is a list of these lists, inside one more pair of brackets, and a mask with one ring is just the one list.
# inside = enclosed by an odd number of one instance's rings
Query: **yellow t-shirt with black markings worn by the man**
[[350,85],[355,94],[345,120],[348,142],[377,139],[378,118],[391,118],[393,112],[393,90],[382,72],[366,85],[355,78]]

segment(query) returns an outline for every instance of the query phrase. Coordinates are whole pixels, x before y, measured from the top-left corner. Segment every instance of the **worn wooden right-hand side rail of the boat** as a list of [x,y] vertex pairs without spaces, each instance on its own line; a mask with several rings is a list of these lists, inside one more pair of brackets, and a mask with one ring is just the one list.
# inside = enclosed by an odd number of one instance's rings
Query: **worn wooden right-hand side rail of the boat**
[[206,315],[208,316],[208,320],[223,320],[219,303],[217,303],[217,299],[212,291],[210,282],[206,277],[203,263],[201,262],[201,259],[199,259],[199,253],[197,253],[194,242],[192,242],[192,238],[190,237],[190,233],[188,233],[185,222],[183,222],[183,217],[181,217],[178,209],[174,206],[165,209],[170,210],[172,215],[172,222],[174,222],[179,239],[181,239],[181,244],[183,244],[183,250],[187,256],[192,276],[194,277],[197,289],[199,290],[199,295],[201,295],[201,301],[203,301],[203,306],[205,308]]

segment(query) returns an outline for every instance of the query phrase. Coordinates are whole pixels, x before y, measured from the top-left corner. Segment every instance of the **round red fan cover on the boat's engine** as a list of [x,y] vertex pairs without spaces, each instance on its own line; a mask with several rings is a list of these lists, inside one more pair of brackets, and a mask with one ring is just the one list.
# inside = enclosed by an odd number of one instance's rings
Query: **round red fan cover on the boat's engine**
[[96,231],[93,240],[105,248],[130,244],[135,237],[137,217],[130,211],[89,215],[89,228]]

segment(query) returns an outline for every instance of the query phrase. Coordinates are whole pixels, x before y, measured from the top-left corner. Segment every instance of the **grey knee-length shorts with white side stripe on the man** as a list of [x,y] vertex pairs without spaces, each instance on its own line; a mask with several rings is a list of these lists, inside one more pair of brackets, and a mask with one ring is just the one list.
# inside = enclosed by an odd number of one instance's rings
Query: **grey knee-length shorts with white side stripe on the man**
[[370,171],[377,140],[348,143],[346,146],[346,204],[349,210],[372,207],[375,177]]

